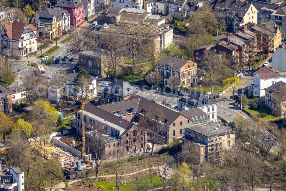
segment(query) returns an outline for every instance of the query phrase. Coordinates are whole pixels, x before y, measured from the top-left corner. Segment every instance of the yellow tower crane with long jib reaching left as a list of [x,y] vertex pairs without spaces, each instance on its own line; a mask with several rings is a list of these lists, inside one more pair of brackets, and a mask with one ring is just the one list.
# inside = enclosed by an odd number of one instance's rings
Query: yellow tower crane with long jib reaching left
[[79,100],[79,98],[77,98],[77,97],[74,97],[72,95],[68,95],[66,93],[60,92],[59,90],[53,89],[50,87],[49,82],[48,82],[49,86],[46,86],[46,85],[41,84],[41,83],[36,82],[36,81],[34,81],[34,83],[37,85],[40,85],[41,87],[43,87],[45,89],[48,89],[50,91],[54,91],[56,93],[59,93],[60,95],[64,95],[68,98],[71,98],[73,100],[77,100],[81,103],[81,107],[82,107],[82,158],[84,158],[84,156],[86,155],[86,137],[85,137],[85,124],[84,124],[84,106],[86,104],[86,100],[85,99]]

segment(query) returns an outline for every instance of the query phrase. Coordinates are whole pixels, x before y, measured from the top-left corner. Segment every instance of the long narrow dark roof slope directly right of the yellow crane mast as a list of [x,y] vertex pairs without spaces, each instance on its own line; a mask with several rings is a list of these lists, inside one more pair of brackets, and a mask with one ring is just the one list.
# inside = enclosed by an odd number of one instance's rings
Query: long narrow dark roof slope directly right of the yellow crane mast
[[127,120],[122,120],[120,117],[113,115],[107,111],[104,111],[101,108],[96,107],[92,104],[86,104],[84,107],[84,111],[92,113],[100,118],[106,119],[108,122],[116,124],[124,129],[131,128],[134,125],[133,123]]

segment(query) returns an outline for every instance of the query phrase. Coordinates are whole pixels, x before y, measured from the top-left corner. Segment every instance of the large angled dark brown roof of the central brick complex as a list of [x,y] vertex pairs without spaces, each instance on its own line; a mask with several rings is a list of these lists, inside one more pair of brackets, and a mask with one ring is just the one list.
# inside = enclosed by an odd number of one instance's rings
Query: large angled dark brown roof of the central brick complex
[[122,115],[128,114],[126,109],[130,108],[133,108],[134,112],[136,113],[140,113],[142,110],[148,112],[150,110],[157,109],[161,112],[161,117],[167,120],[167,122],[165,123],[166,126],[170,126],[181,115],[174,110],[170,110],[164,106],[151,102],[135,94],[132,94],[128,100],[101,105],[98,106],[98,108],[101,108],[102,110],[105,110],[112,114],[113,112],[121,111]]

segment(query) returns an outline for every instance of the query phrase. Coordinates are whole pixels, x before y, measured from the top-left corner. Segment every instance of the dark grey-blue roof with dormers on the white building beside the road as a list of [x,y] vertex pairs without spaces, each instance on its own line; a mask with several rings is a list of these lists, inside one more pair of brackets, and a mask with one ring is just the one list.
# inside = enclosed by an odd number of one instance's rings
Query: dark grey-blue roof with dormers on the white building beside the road
[[[208,99],[208,97],[206,97],[205,95],[198,93],[196,91],[193,91],[192,93],[189,93],[188,95],[185,95],[184,97],[180,98],[179,101],[183,101],[183,99],[186,100],[185,101],[186,104],[193,106],[195,108],[217,104],[216,102]],[[205,105],[204,101],[207,101],[208,103]],[[193,102],[193,104],[191,104],[190,102]]]

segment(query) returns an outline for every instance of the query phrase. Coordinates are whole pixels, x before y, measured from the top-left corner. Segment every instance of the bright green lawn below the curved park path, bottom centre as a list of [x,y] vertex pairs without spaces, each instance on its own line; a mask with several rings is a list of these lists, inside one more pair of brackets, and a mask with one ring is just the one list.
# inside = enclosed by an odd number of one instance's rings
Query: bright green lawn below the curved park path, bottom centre
[[[144,187],[142,188],[142,190],[149,190],[152,189],[150,184],[150,175],[146,175],[143,178],[143,181],[141,182],[141,185],[144,185]],[[162,183],[160,181],[160,177],[157,175],[152,174],[152,182],[153,182],[153,186],[154,188],[159,188],[162,187]],[[125,183],[124,183],[125,184]],[[112,178],[111,182],[108,181],[97,181],[95,182],[95,186],[99,187],[100,185],[103,185],[104,188],[103,190],[110,190],[112,191],[112,187],[114,187],[116,189],[116,183],[114,181],[114,178]],[[136,190],[136,181],[130,182],[130,183],[126,183],[126,185],[120,184],[120,190],[121,191],[130,191],[130,190]]]

